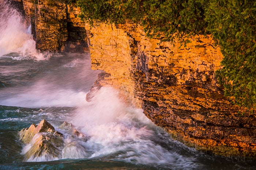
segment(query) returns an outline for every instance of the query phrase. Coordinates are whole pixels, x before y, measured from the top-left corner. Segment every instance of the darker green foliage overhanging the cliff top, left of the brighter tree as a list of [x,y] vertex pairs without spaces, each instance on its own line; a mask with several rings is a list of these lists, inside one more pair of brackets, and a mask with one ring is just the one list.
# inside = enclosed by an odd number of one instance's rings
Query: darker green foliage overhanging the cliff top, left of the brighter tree
[[138,23],[148,36],[165,41],[174,40],[174,34],[184,41],[206,32],[202,0],[78,0],[77,3],[82,9],[80,17],[92,25]]

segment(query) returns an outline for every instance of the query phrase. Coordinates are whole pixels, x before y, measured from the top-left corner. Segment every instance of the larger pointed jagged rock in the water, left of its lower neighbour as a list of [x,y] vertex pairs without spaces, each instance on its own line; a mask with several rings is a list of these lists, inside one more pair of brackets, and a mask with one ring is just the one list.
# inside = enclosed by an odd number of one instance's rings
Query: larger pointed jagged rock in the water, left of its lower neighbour
[[25,161],[50,161],[60,159],[64,148],[63,134],[43,119],[37,126],[33,123],[29,128],[19,132],[20,140],[26,144],[22,150]]

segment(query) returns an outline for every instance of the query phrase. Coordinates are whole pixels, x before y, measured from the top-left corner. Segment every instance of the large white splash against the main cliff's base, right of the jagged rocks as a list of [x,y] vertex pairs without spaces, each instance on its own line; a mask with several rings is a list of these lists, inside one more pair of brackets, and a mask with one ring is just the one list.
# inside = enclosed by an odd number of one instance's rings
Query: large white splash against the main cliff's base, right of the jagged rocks
[[[84,147],[90,150],[89,158],[115,159],[173,169],[193,169],[200,166],[195,163],[194,158],[159,145],[156,142],[159,140],[156,139],[156,126],[141,109],[122,103],[118,92],[113,88],[101,88],[92,102],[79,106],[70,121],[90,137],[84,144]],[[164,140],[169,139],[167,137]]]

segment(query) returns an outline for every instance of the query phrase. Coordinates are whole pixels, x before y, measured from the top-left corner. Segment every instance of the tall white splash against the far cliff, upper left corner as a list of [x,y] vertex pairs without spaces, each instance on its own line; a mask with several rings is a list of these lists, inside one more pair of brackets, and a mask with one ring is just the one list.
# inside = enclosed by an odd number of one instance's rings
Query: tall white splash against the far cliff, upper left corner
[[[35,41],[31,35],[31,28],[26,28],[20,13],[11,7],[8,2],[0,4],[0,57],[9,57],[14,60],[35,59],[46,60],[49,53],[40,53],[35,49]],[[16,52],[18,56],[8,54]]]

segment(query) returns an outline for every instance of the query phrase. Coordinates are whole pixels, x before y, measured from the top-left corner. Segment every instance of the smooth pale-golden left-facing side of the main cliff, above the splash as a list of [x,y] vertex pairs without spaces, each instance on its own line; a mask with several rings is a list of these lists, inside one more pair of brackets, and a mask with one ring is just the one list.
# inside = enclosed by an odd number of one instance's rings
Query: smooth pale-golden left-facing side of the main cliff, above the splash
[[86,24],[86,30],[90,39],[91,68],[110,74],[103,78],[105,81],[101,81],[101,84],[120,89],[120,96],[125,100],[135,100],[132,95],[135,84],[131,77],[130,37],[127,32],[105,24],[96,28]]

